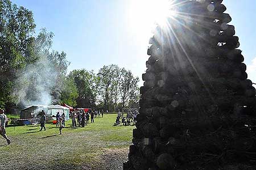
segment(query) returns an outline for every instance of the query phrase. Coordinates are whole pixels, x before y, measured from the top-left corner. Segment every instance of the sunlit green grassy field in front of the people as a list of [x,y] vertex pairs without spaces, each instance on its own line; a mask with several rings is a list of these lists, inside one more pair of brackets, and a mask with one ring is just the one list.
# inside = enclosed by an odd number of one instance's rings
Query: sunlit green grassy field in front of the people
[[39,125],[6,128],[12,143],[0,137],[0,169],[121,169],[135,126],[113,126],[115,116],[94,118],[85,128],[72,128],[69,120],[63,135],[52,124],[46,131]]

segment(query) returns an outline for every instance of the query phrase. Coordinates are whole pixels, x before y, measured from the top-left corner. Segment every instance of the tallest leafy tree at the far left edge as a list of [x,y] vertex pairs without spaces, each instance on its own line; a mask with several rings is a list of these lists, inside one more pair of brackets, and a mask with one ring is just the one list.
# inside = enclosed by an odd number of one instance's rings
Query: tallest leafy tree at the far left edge
[[13,103],[16,72],[33,61],[31,46],[35,23],[31,11],[0,0],[0,105]]

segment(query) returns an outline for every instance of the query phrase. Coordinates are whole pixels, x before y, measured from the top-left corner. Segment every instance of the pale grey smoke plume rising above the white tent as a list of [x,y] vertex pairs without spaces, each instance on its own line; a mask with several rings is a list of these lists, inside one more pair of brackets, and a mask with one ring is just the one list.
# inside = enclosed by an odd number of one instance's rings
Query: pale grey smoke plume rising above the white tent
[[52,103],[52,89],[56,85],[57,73],[46,55],[20,71],[15,82],[14,96],[19,104],[49,105]]

